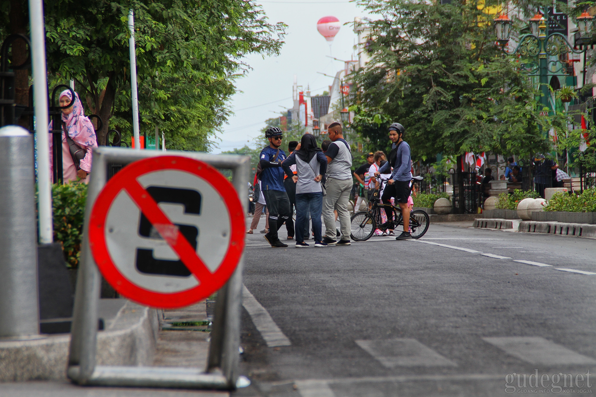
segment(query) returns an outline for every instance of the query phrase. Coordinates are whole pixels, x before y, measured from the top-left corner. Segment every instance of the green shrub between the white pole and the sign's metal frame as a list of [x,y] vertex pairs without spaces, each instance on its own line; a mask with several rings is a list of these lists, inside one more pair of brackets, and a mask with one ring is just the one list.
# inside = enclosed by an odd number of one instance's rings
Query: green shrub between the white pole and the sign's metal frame
[[87,185],[72,182],[52,185],[54,241],[62,244],[67,266],[76,269],[80,259],[80,238],[85,220]]

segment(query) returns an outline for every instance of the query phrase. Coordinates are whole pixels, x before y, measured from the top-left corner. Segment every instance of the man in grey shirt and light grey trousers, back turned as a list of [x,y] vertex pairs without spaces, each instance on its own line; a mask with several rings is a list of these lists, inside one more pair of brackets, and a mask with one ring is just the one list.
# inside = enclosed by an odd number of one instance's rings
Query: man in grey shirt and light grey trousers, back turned
[[[350,145],[343,139],[340,123],[331,123],[327,131],[332,142],[325,151],[328,165],[327,183],[325,184],[327,196],[323,200],[323,221],[325,222],[323,242],[328,245],[349,246],[350,213],[347,210],[347,204],[352,191],[352,151],[350,151]],[[336,240],[334,209],[337,210],[342,232],[339,241]]]

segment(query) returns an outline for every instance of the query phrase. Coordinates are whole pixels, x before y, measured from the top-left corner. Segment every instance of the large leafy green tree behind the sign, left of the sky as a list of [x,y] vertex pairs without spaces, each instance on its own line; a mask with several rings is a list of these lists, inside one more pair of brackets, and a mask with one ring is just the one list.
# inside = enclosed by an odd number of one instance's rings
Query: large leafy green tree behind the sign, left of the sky
[[269,23],[259,5],[243,0],[45,2],[48,71],[76,80],[89,112],[104,120],[100,144],[113,126],[130,136],[129,9],[141,130],[159,126],[169,148],[208,150],[229,114],[234,79],[250,69],[244,56],[278,54],[285,24]]

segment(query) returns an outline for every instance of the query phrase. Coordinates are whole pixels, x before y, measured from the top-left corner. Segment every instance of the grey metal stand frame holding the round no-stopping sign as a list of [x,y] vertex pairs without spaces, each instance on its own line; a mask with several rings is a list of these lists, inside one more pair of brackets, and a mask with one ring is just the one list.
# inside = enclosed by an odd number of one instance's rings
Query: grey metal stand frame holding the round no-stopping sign
[[[107,182],[108,164],[128,164],[136,160],[163,156],[162,151],[100,147],[93,150],[93,168],[85,207],[85,226],[81,247],[81,262],[77,276],[72,339],[67,375],[81,385],[179,387],[189,389],[234,390],[238,380],[240,355],[240,306],[244,255],[224,287],[218,291],[209,342],[207,368],[132,367],[96,365],[98,305],[101,275],[91,255],[88,221],[95,200]],[[232,185],[238,195],[246,193],[250,157],[229,154],[204,154],[167,151],[167,156],[182,156],[200,160],[215,168],[232,170]],[[246,201],[240,200],[246,213]]]

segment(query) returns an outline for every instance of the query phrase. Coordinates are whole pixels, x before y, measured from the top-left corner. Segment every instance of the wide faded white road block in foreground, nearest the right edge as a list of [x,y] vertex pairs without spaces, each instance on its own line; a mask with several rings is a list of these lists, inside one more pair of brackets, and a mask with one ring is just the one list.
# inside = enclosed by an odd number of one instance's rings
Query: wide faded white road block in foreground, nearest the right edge
[[591,357],[576,353],[539,336],[485,337],[482,339],[530,364],[596,364],[596,360]]

